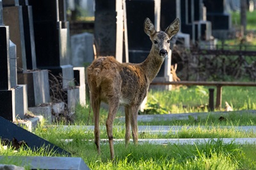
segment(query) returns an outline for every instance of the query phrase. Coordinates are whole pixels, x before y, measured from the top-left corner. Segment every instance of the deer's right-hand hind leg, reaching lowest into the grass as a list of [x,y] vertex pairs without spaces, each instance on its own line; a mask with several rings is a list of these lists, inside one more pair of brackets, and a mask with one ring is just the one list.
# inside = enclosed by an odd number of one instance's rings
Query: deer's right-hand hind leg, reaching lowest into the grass
[[116,112],[118,110],[118,106],[119,106],[119,98],[116,100],[111,100],[111,103],[109,103],[109,113],[106,121],[111,159],[115,157],[114,146],[113,146],[113,123],[116,116]]

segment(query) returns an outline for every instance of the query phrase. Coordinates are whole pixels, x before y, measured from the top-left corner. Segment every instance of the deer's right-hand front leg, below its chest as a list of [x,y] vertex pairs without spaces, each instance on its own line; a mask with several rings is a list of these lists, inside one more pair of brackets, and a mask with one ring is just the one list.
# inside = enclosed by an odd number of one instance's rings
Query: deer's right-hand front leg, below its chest
[[132,127],[132,139],[134,144],[138,144],[138,111],[139,111],[140,105],[134,105],[131,107],[131,127]]

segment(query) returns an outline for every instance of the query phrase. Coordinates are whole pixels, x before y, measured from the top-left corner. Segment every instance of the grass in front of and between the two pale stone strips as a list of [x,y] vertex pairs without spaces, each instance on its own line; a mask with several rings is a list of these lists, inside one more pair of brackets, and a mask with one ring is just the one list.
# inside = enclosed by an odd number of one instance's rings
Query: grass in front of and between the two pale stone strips
[[[218,125],[212,126],[209,121],[204,126],[184,128],[180,132],[164,134],[140,134],[140,138],[191,138],[210,137],[218,138],[205,143],[194,145],[182,144],[129,144],[125,148],[124,142],[115,143],[115,160],[109,160],[108,143],[101,143],[101,154],[98,155],[93,143],[93,131],[83,127],[68,125],[62,126],[40,126],[36,128],[35,134],[47,141],[70,152],[72,157],[81,157],[91,169],[253,169],[256,165],[256,144],[223,143],[224,137],[255,137],[254,132],[238,132],[235,128],[223,128]],[[181,125],[181,124],[180,124]],[[114,128],[115,139],[124,138],[124,130]],[[106,128],[103,126],[100,137],[107,139]],[[63,139],[73,139],[65,142]],[[33,151],[29,148],[21,148],[13,152],[12,148],[3,149],[0,145],[0,155],[22,155],[22,156],[62,156],[53,151],[40,148]],[[16,164],[19,160],[1,160],[0,163]],[[28,167],[29,169],[29,167]]]

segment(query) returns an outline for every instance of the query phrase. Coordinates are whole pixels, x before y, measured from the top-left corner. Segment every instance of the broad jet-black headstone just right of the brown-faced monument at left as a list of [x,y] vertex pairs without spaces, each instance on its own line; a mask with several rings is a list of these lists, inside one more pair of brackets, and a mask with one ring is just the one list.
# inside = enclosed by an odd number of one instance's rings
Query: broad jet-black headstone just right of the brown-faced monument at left
[[68,22],[65,1],[29,0],[33,7],[33,22],[38,68],[61,68],[68,65]]

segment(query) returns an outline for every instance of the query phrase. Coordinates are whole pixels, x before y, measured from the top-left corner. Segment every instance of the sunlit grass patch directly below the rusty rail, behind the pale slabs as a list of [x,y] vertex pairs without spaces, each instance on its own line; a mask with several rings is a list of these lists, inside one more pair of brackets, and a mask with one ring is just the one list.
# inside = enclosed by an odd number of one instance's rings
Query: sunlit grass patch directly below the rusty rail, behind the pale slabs
[[[148,93],[148,104],[158,104],[164,111],[170,113],[207,112],[209,103],[208,88],[212,87],[192,86],[172,91],[150,90]],[[215,88],[214,97],[216,97],[216,91]],[[221,103],[223,108],[225,108],[226,101],[233,107],[234,111],[256,109],[255,87],[224,86]],[[215,111],[223,111],[223,109],[216,109]]]

